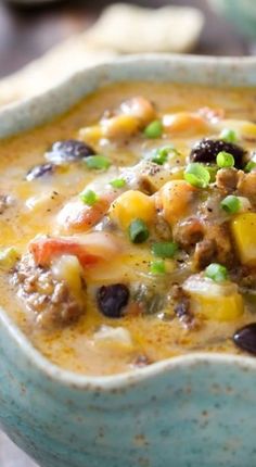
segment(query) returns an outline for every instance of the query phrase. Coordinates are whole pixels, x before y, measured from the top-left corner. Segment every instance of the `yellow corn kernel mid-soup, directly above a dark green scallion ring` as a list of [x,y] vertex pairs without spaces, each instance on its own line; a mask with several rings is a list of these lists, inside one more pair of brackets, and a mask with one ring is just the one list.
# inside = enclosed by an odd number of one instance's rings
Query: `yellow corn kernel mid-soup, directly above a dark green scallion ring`
[[155,217],[154,200],[141,191],[126,191],[112,203],[110,217],[125,229],[136,218],[152,223]]

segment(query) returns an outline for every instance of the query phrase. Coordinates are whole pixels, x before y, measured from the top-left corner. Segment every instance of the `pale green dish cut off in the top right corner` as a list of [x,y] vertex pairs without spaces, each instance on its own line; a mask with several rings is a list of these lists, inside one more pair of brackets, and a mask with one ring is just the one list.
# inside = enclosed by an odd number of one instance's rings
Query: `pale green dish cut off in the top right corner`
[[256,39],[255,0],[208,0],[212,7],[246,36]]

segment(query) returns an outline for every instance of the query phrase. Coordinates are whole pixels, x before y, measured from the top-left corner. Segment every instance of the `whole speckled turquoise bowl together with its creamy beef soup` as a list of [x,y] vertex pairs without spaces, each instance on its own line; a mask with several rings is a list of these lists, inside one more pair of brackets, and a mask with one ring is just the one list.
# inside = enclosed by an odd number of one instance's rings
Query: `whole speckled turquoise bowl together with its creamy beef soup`
[[[68,112],[1,141],[0,416],[42,466],[236,466],[252,450],[256,91],[241,63],[243,79],[229,61],[98,67]],[[2,113],[13,132],[30,125],[17,112]]]

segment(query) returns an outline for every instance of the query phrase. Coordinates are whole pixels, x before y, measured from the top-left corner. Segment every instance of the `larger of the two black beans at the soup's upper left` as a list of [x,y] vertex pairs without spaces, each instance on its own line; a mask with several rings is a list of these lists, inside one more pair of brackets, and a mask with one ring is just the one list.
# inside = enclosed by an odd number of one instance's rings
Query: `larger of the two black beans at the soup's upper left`
[[47,152],[48,161],[54,164],[62,162],[79,161],[89,155],[94,155],[95,151],[90,146],[76,139],[67,139],[65,141],[56,141]]

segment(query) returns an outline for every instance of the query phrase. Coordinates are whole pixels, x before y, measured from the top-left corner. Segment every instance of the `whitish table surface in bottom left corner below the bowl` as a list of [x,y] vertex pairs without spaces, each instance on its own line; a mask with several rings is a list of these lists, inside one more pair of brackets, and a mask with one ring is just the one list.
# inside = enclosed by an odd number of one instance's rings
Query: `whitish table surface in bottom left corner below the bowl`
[[0,431],[0,467],[39,467]]

